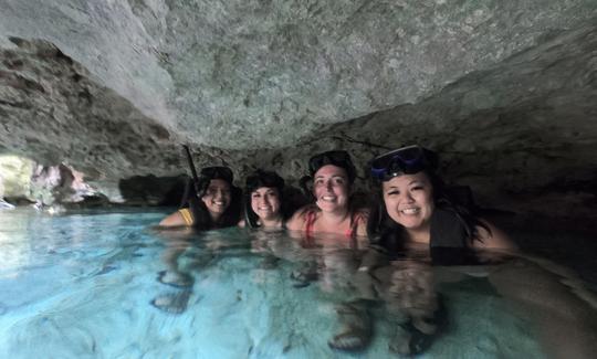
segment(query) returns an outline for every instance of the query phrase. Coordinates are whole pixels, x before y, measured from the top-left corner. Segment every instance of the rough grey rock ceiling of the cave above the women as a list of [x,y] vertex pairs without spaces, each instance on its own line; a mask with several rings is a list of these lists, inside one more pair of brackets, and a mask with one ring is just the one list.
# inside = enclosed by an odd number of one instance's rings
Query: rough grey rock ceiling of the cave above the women
[[2,152],[108,186],[186,172],[182,144],[295,179],[316,151],[419,142],[481,200],[596,204],[595,0],[0,8]]

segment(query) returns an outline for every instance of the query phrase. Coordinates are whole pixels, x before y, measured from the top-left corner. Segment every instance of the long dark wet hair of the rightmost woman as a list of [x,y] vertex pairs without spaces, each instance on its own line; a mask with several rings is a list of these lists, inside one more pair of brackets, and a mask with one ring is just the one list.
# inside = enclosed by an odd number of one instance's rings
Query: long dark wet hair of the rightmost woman
[[[491,230],[474,215],[474,209],[460,203],[447,189],[442,179],[432,169],[422,171],[429,179],[432,188],[432,199],[437,210],[444,210],[453,214],[460,222],[464,232],[464,242],[470,247],[478,240],[478,226]],[[402,176],[402,175],[399,175]],[[394,221],[386,209],[383,192],[383,181],[374,179],[377,187],[375,199],[367,222],[367,235],[371,244],[380,245],[390,252],[400,252],[406,243],[405,228]]]

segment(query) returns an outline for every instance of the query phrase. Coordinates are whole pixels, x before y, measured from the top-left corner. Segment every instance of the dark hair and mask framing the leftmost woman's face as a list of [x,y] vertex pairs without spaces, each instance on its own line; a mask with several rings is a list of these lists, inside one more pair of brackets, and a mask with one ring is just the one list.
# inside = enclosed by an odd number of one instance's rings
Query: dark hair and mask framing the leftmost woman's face
[[[232,171],[230,171],[230,169],[228,169],[227,167],[207,167],[201,170],[201,176],[197,186],[200,193],[197,193],[193,186],[188,186],[189,194],[188,200],[186,201],[186,207],[189,207],[192,212],[192,226],[195,229],[200,231],[207,231],[212,229],[233,226],[239,223],[242,191],[240,188],[235,187],[232,183],[233,177],[231,176],[231,173]],[[201,200],[201,198],[206,194],[206,191],[209,188],[211,180],[214,179],[223,180],[230,186],[230,204],[222,213],[222,215],[220,215],[218,221],[213,221],[211,219],[211,214],[209,213],[206,203],[203,203],[203,201]]]

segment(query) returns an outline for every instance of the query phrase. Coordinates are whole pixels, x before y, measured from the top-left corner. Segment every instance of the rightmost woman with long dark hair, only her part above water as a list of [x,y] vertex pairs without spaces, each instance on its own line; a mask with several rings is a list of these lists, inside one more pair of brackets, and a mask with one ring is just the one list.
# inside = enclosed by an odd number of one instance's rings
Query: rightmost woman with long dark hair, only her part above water
[[491,223],[449,198],[437,167],[438,156],[419,146],[399,148],[373,160],[371,177],[380,191],[367,228],[371,241],[390,251],[409,245],[460,253],[515,249]]

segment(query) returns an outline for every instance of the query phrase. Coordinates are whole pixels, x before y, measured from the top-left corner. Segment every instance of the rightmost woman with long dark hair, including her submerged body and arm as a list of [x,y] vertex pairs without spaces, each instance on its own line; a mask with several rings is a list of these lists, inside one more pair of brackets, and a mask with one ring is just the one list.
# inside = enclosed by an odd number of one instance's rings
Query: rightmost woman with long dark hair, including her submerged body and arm
[[[369,277],[374,295],[401,316],[390,348],[411,355],[430,345],[444,317],[438,283],[485,276],[528,320],[549,357],[595,358],[595,294],[562,266],[519,252],[490,222],[459,205],[437,169],[438,156],[419,146],[371,161],[379,192],[368,232],[371,247],[379,250],[368,251],[357,277]],[[481,325],[489,320],[479,318]]]

